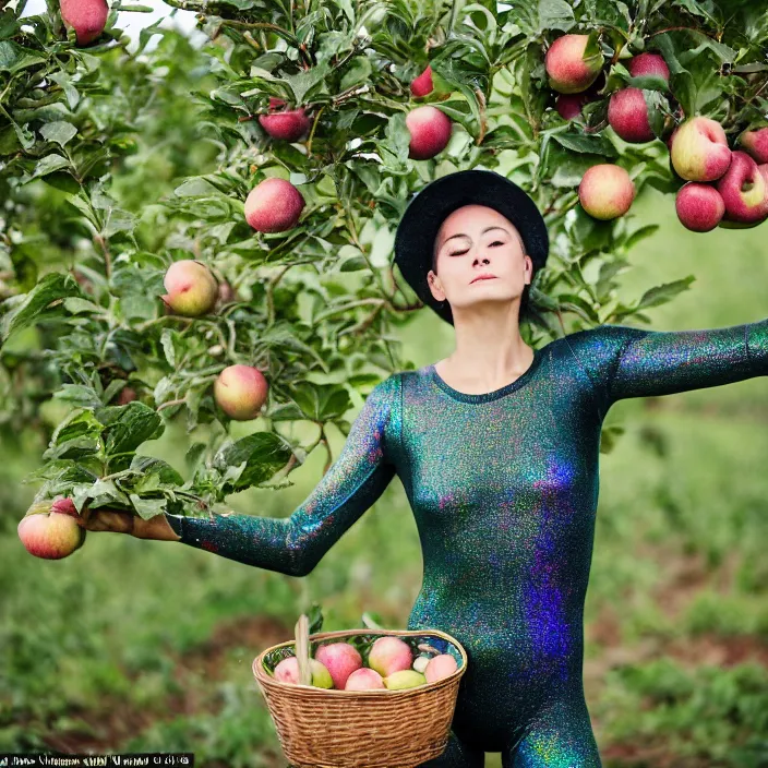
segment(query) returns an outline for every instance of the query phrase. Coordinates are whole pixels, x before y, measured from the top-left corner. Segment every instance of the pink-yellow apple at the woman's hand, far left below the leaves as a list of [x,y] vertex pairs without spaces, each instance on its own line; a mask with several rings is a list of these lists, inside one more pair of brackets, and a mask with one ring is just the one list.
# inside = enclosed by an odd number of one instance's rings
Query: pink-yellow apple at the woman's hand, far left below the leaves
[[61,560],[85,542],[86,529],[77,524],[77,507],[71,499],[33,504],[16,531],[26,551],[35,557]]

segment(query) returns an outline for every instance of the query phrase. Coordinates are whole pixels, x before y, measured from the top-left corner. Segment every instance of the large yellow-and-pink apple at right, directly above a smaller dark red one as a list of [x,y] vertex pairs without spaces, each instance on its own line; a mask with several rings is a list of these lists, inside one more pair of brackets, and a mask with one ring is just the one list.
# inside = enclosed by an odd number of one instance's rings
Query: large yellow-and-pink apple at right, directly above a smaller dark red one
[[731,164],[731,149],[722,125],[701,116],[677,125],[670,156],[675,171],[687,181],[715,181]]

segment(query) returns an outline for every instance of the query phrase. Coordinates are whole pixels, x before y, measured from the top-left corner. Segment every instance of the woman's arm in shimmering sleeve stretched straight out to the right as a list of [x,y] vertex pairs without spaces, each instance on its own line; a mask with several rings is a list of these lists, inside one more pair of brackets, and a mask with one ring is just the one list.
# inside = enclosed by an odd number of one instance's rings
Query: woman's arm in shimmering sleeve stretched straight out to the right
[[768,319],[703,331],[599,325],[565,337],[602,415],[626,397],[671,395],[768,375]]

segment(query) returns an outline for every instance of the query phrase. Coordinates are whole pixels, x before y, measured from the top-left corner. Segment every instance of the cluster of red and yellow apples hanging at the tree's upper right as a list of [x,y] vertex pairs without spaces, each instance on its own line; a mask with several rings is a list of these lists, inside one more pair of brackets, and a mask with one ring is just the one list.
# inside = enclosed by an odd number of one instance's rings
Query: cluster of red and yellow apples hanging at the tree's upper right
[[[589,35],[563,35],[547,51],[549,83],[557,92],[555,109],[565,120],[600,98],[604,86],[602,52],[587,56],[588,40]],[[633,57],[627,70],[633,77],[670,80],[663,57],[651,51]],[[643,91],[627,86],[611,94],[608,122],[625,142],[649,142],[656,135],[648,109]],[[768,127],[745,130],[736,143],[743,151],[731,149],[722,125],[703,116],[685,119],[667,140],[672,168],[686,182],[677,192],[675,209],[687,229],[706,232],[718,225],[753,227],[768,218]],[[629,209],[635,185],[625,168],[598,164],[581,178],[578,196],[590,216],[607,220]]]

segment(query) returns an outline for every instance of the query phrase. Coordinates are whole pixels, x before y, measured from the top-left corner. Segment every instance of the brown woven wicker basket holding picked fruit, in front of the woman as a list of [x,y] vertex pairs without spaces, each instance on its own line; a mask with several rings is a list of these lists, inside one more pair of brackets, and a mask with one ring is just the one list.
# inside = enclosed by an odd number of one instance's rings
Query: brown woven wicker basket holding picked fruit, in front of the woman
[[412,638],[437,652],[452,652],[460,662],[447,677],[415,688],[337,691],[275,680],[266,660],[293,656],[296,641],[262,651],[253,660],[253,674],[283,751],[296,768],[412,768],[445,751],[459,680],[467,670],[461,645],[439,629],[360,628],[310,635],[308,650],[313,656],[313,644],[359,635]]

